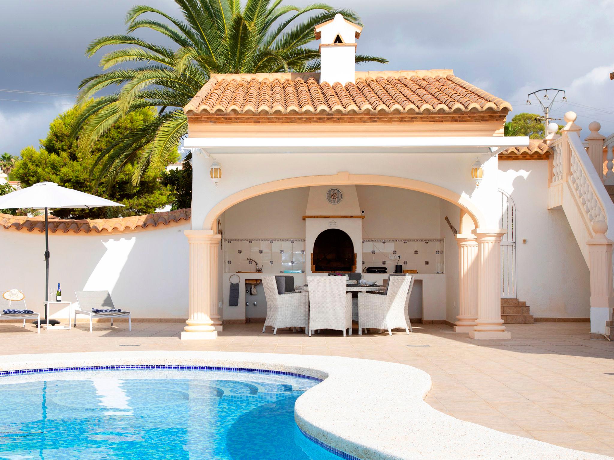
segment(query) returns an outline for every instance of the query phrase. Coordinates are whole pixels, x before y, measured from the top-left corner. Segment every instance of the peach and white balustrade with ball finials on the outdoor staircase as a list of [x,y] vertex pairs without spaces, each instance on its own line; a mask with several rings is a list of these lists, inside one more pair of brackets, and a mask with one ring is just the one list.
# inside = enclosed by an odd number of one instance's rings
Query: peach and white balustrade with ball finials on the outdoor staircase
[[580,246],[591,275],[591,338],[605,339],[606,332],[610,332],[614,306],[614,203],[604,185],[605,137],[599,134],[599,123],[591,123],[586,149],[575,120],[575,113],[565,113],[567,125],[562,135],[546,137],[554,152],[549,160],[548,209],[559,208],[565,212]]

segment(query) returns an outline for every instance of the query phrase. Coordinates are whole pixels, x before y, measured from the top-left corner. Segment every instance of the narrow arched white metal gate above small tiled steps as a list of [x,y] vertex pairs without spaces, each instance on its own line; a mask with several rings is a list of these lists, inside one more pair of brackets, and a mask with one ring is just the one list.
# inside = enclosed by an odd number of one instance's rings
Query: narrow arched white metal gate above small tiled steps
[[516,206],[511,197],[499,190],[501,198],[501,220],[499,228],[507,233],[501,242],[501,297],[515,299],[516,294]]

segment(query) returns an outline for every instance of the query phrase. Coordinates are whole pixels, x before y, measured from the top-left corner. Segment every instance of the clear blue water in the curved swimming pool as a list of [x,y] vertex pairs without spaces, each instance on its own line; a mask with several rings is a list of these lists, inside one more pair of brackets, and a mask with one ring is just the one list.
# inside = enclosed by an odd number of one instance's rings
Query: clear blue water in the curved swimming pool
[[0,458],[339,460],[294,421],[317,383],[217,370],[0,377]]

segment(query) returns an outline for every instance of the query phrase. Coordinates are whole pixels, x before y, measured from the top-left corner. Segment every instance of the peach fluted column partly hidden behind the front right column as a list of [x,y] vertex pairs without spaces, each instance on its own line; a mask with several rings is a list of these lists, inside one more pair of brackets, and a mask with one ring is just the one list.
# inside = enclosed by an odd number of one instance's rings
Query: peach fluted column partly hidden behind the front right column
[[475,235],[457,235],[459,247],[459,315],[454,332],[470,332],[478,318],[478,242]]

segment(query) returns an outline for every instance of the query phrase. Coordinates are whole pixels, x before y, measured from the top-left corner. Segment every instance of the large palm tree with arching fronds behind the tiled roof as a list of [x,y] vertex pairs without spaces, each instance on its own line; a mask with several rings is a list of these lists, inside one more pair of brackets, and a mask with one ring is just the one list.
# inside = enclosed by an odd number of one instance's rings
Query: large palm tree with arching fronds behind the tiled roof
[[[341,13],[360,23],[352,10],[333,9],[317,3],[305,8],[282,6],[283,0],[174,0],[182,18],[149,6],[134,6],[126,15],[127,33],[94,40],[86,54],[117,45],[101,58],[104,72],[80,83],[79,102],[85,104],[99,91],[120,89],[101,96],[76,120],[79,148],[89,150],[103,132],[132,110],[155,108],[158,116],[102,151],[99,177],[112,182],[128,163],[135,163],[133,183],[148,167],[166,166],[169,155],[187,134],[185,104],[211,74],[255,72],[309,72],[319,69],[320,53],[309,46],[313,29]],[[143,15],[152,13],[153,18]],[[174,42],[176,49],[147,42],[132,35],[150,29]],[[376,56],[357,55],[357,63],[386,63]],[[127,64],[127,65],[126,65]],[[137,64],[136,66],[134,64]]]

